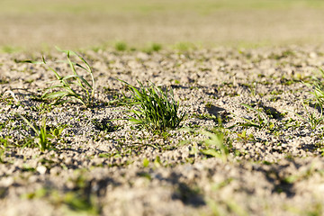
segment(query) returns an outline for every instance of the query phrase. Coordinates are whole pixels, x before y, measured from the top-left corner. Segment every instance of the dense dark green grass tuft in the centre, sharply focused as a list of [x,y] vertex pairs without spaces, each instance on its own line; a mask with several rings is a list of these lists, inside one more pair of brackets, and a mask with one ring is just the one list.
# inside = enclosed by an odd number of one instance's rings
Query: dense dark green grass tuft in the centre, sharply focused
[[135,115],[128,115],[130,122],[144,126],[153,131],[162,131],[167,128],[175,129],[184,120],[185,112],[179,112],[179,102],[175,103],[172,88],[163,91],[160,87],[154,84],[144,86],[139,83],[139,90],[125,81],[120,80],[126,84],[130,90],[131,97],[123,94],[123,102],[121,104],[127,105],[129,110]]

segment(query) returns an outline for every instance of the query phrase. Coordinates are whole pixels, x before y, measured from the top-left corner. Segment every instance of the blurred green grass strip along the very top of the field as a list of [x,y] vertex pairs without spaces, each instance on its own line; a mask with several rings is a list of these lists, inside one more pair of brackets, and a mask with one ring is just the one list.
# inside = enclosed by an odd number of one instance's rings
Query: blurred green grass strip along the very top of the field
[[321,0],[2,0],[1,14],[161,13],[210,14],[221,9],[323,8]]

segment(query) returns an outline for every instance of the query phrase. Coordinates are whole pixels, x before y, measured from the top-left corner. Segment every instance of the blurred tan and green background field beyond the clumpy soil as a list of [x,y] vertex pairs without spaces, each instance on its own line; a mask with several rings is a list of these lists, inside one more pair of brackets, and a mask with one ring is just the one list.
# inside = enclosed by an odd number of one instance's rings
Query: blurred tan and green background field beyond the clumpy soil
[[0,50],[320,45],[323,12],[321,0],[1,0]]

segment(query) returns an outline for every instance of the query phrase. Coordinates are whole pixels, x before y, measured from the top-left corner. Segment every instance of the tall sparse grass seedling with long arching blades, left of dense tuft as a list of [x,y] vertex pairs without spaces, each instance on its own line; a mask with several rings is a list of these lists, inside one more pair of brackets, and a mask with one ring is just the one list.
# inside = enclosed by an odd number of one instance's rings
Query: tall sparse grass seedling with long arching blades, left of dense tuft
[[[41,95],[40,99],[54,100],[52,104],[77,101],[85,105],[85,107],[91,106],[94,103],[94,92],[95,92],[94,73],[92,68],[85,61],[85,58],[82,58],[81,56],[76,54],[76,52],[69,51],[69,50],[67,51],[60,50],[60,51],[65,52],[67,54],[67,63],[73,72],[72,75],[60,76],[54,68],[48,66],[44,57],[42,57],[42,61],[31,61],[31,60],[23,61],[23,62],[33,63],[33,64],[46,65],[49,68],[49,70],[51,70],[55,74],[57,78],[57,80],[51,82],[52,83],[51,86],[45,89],[45,93]],[[85,66],[73,62],[71,60],[71,56],[76,56],[77,58],[79,58],[85,64]],[[81,68],[85,70],[91,76],[92,85],[90,85],[88,81],[85,80],[84,77],[79,76],[76,73],[76,68]],[[58,89],[58,90],[53,91],[54,89]]]

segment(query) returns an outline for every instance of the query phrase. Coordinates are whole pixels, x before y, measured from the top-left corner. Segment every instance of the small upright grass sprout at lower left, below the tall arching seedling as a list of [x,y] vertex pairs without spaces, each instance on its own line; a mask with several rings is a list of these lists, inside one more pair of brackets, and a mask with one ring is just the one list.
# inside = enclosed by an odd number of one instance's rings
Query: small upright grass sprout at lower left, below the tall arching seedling
[[36,141],[38,143],[38,147],[40,148],[40,151],[45,151],[46,149],[49,149],[50,142],[49,138],[52,138],[51,135],[46,130],[46,118],[43,117],[40,122],[40,127],[34,126],[31,121],[28,121],[26,118],[24,118],[22,115],[18,114],[23,121],[26,122],[28,126],[31,127],[31,130],[33,130],[36,133],[35,139],[38,139]]

